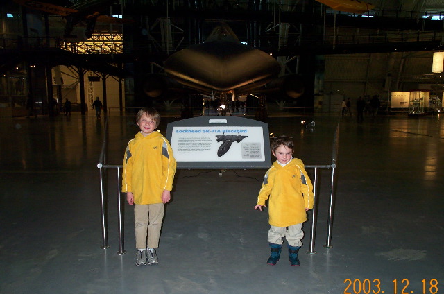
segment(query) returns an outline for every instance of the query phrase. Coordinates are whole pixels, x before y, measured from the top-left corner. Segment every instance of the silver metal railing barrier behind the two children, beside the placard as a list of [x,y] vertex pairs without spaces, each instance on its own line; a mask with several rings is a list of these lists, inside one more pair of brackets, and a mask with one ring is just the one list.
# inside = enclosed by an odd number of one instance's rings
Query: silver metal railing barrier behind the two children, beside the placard
[[[108,187],[107,187],[107,176],[105,173],[106,169],[114,169],[117,172],[117,220],[118,220],[118,236],[119,236],[119,251],[117,254],[122,255],[126,253],[124,250],[124,232],[123,232],[123,209],[122,209],[122,198],[121,198],[121,165],[107,165],[106,161],[106,148],[108,138],[108,116],[105,116],[105,132],[103,135],[103,144],[101,148],[101,153],[99,156],[99,163],[97,164],[97,168],[99,168],[100,173],[100,191],[101,191],[101,225],[102,225],[102,246],[101,248],[109,248],[108,244],[108,209],[106,205],[106,200],[108,199]],[[334,204],[336,200],[336,161],[338,155],[338,146],[339,146],[339,123],[336,126],[336,130],[334,132],[333,139],[333,150],[332,150],[332,163],[330,165],[307,165],[305,168],[314,169],[314,178],[311,179],[313,182],[313,191],[314,191],[314,207],[312,209],[311,216],[311,228],[310,228],[310,243],[309,250],[307,250],[308,254],[316,254],[315,248],[315,240],[316,240],[316,226],[317,226],[317,218],[318,218],[318,177],[319,177],[319,169],[331,169],[331,182],[330,182],[330,199],[329,199],[329,209],[328,209],[328,220],[327,220],[327,234],[325,241],[325,248],[332,248],[332,231],[333,231],[333,218],[334,218]]]

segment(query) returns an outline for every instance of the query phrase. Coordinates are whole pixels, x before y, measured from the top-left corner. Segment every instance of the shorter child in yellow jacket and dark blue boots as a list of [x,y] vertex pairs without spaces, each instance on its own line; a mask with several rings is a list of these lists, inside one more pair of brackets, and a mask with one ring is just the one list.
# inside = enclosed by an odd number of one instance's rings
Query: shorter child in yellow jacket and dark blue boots
[[268,200],[268,243],[271,255],[267,263],[280,258],[282,238],[287,239],[291,266],[300,266],[298,252],[304,236],[302,223],[313,208],[313,185],[300,159],[293,158],[294,144],[289,137],[277,137],[271,144],[276,160],[265,174],[255,209],[262,211]]

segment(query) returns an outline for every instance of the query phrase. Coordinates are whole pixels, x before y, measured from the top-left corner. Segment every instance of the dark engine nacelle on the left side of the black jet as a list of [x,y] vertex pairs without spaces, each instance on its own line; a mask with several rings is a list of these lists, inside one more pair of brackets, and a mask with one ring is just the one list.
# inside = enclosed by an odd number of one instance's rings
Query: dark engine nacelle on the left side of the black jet
[[162,98],[167,92],[183,92],[183,86],[169,76],[148,74],[144,78],[144,92],[151,98]]

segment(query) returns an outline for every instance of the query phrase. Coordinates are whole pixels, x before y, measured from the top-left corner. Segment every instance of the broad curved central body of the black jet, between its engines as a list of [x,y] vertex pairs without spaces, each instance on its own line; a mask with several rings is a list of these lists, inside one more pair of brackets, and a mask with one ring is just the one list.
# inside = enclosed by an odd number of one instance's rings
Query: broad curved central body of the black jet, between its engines
[[215,40],[174,53],[166,60],[165,71],[188,87],[227,92],[265,85],[278,76],[280,64],[250,46]]

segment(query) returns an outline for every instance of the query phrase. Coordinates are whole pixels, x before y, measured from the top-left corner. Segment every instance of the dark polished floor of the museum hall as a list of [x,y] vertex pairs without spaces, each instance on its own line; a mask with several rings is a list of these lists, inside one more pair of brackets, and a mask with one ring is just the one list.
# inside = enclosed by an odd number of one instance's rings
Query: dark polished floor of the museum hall
[[[316,121],[305,130],[301,119]],[[165,117],[160,130],[174,118]],[[108,171],[108,249],[102,249],[99,169],[104,119],[0,119],[0,293],[444,293],[444,116],[292,114],[268,119],[306,165],[332,161],[339,121],[332,248],[330,171],[320,175],[316,254],[283,252],[268,266],[267,213],[254,211],[264,170],[180,170],[157,253],[135,266],[133,211],[123,205],[119,255],[116,173]],[[110,114],[107,164],[137,132]],[[437,286],[436,282],[438,283]],[[359,288],[361,286],[361,288]],[[354,288],[355,287],[355,288]]]

